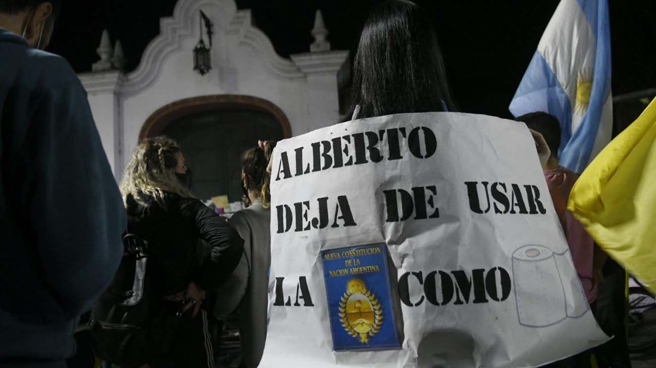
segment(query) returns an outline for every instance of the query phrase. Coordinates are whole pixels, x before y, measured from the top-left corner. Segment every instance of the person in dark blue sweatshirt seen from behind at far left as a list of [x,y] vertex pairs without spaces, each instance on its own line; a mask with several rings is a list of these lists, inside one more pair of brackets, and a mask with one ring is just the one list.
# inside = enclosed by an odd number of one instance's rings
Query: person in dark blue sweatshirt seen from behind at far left
[[59,0],[0,0],[0,367],[66,367],[123,253],[87,94],[48,45]]

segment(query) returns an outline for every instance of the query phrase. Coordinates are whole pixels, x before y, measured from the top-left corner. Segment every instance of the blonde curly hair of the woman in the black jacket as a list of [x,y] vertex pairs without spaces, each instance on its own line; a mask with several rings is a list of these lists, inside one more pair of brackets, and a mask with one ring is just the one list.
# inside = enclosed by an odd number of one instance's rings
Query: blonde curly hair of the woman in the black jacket
[[176,155],[179,152],[178,143],[164,136],[140,141],[121,181],[121,194],[126,206],[129,194],[138,204],[146,207],[152,202],[151,198],[165,206],[164,197],[167,192],[194,198],[175,175],[178,165]]

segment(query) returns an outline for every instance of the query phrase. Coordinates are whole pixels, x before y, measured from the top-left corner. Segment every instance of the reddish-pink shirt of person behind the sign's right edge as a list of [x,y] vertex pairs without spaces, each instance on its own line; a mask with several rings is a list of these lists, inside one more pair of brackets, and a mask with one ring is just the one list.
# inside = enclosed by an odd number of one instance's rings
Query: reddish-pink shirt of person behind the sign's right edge
[[549,187],[549,193],[554,201],[556,213],[563,226],[565,238],[569,245],[574,267],[579,274],[581,284],[588,303],[592,303],[597,297],[597,285],[594,284],[592,274],[594,240],[586,232],[583,225],[567,210],[567,199],[574,183],[579,179],[579,174],[571,172],[567,168],[559,167],[553,170],[545,170],[544,177]]

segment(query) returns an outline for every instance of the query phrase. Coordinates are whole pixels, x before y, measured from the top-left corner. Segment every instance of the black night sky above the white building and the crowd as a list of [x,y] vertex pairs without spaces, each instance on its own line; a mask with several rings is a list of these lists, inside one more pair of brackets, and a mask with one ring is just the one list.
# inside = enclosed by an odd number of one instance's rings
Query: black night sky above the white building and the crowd
[[[333,50],[352,50],[367,11],[379,0],[237,0],[280,56],[308,52],[321,9]],[[510,117],[508,103],[558,0],[417,1],[434,14],[451,89],[462,111]],[[81,73],[98,60],[102,29],[120,39],[127,69],[159,34],[176,0],[63,0],[49,50]],[[613,95],[656,87],[656,1],[609,0]],[[190,51],[191,52],[191,51]]]

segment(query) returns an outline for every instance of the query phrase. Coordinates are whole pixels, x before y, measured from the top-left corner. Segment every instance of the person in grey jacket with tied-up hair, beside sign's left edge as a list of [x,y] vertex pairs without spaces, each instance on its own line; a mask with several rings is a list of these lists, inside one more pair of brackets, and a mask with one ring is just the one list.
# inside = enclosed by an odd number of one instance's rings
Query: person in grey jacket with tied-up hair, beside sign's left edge
[[244,240],[244,255],[232,277],[218,291],[215,317],[224,319],[236,308],[241,339],[240,367],[257,367],[266,340],[266,307],[271,265],[269,183],[266,172],[275,144],[258,143],[241,156],[243,187],[251,206],[235,213],[230,225]]

